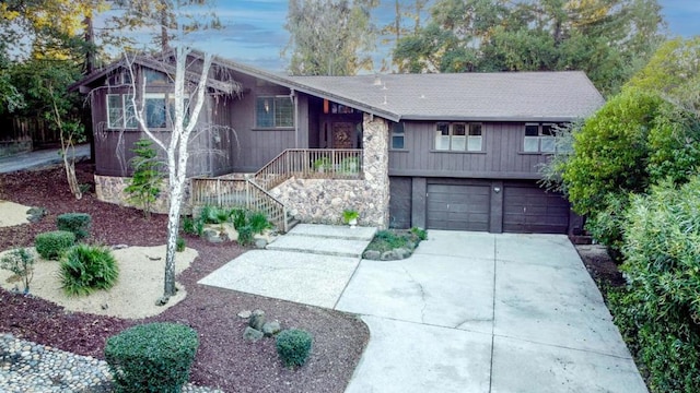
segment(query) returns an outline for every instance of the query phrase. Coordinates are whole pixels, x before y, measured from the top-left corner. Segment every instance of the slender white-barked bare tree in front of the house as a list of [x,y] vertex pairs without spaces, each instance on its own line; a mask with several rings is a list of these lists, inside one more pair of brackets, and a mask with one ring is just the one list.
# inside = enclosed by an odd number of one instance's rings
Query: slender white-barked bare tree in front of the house
[[[203,4],[201,0],[159,0],[155,2],[132,1],[133,4],[151,3],[154,13],[148,15],[168,15],[161,19],[160,25],[152,26],[153,34],[159,36],[161,44],[162,68],[166,70],[172,82],[173,98],[166,104],[165,114],[171,122],[170,140],[163,140],[154,133],[147,121],[145,90],[147,81],[142,73],[136,72],[133,60],[135,55],[130,55],[125,48],[124,58],[131,73],[131,87],[135,92],[131,96],[131,104],[135,108],[135,118],[141,131],[153,141],[154,145],[163,151],[167,168],[167,235],[165,251],[165,273],[163,285],[163,297],[159,299],[160,305],[168,301],[175,295],[175,258],[177,235],[179,233],[180,210],[184,199],[185,183],[187,180],[187,162],[189,158],[188,144],[198,128],[199,115],[207,99],[207,80],[211,68],[213,56],[210,53],[195,53],[187,44],[186,34],[209,27],[218,27],[215,19],[210,23],[202,23],[199,16],[182,11],[189,4]],[[163,9],[165,8],[165,10]],[[158,19],[156,19],[158,20]],[[166,41],[164,41],[166,39]],[[168,48],[170,46],[174,48]],[[141,55],[148,56],[148,55]],[[154,57],[149,57],[154,59]],[[199,75],[197,81],[192,81],[189,75]],[[142,79],[137,81],[137,75]]]

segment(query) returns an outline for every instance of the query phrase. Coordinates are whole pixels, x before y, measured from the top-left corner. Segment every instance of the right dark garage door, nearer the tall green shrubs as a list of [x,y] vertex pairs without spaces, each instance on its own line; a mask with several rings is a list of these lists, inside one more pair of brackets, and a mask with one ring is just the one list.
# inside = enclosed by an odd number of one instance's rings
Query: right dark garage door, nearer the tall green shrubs
[[569,202],[536,186],[506,186],[503,190],[503,231],[565,234]]

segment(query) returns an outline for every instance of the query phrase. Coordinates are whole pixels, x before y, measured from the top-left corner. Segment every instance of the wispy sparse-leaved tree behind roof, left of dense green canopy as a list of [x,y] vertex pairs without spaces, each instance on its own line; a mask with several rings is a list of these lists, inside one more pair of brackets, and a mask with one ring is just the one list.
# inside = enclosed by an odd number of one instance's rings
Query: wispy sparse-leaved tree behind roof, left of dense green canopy
[[378,0],[290,0],[289,72],[294,75],[353,75],[372,69],[377,28],[371,13]]

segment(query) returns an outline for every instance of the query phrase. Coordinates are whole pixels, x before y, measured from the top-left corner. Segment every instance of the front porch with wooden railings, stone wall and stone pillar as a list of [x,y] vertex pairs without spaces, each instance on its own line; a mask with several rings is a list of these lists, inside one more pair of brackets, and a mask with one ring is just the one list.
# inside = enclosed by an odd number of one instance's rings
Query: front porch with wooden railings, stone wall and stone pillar
[[288,148],[254,174],[191,179],[191,206],[243,206],[267,214],[281,231],[296,222],[339,224],[343,210],[360,225],[388,224],[388,129],[365,115],[363,148]]

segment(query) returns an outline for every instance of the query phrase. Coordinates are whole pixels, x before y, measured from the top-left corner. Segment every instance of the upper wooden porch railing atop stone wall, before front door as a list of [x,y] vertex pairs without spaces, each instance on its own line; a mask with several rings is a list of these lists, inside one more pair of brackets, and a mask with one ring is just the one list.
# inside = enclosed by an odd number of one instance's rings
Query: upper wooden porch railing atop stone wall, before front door
[[292,176],[301,179],[361,179],[361,148],[288,148],[253,177],[270,190]]

